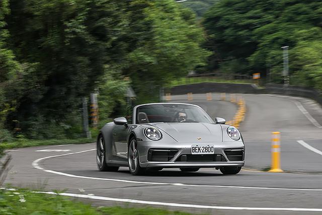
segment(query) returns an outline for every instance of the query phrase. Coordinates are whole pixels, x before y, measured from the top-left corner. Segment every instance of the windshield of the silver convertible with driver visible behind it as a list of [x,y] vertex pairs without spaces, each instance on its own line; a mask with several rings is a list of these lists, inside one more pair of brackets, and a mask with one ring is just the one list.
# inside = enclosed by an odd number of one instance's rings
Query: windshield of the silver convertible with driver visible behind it
[[136,110],[137,124],[153,122],[206,122],[213,123],[200,107],[184,104],[143,105]]

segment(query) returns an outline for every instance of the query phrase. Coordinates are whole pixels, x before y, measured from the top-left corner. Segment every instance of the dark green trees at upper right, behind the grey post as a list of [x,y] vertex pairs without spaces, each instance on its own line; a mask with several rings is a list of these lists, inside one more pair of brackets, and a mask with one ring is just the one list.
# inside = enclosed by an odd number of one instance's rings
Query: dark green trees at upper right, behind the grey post
[[322,90],[322,2],[221,0],[205,15],[211,69],[270,74],[281,83],[282,46],[290,48],[291,84]]

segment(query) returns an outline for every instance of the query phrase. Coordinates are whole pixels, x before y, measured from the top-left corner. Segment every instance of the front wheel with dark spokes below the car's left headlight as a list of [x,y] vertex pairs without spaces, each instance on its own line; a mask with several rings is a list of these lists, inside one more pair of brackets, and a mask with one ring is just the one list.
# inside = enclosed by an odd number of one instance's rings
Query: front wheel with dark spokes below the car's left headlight
[[135,137],[130,140],[127,152],[127,161],[129,164],[130,173],[132,175],[144,175],[146,168],[140,167],[139,153],[137,151],[137,142]]

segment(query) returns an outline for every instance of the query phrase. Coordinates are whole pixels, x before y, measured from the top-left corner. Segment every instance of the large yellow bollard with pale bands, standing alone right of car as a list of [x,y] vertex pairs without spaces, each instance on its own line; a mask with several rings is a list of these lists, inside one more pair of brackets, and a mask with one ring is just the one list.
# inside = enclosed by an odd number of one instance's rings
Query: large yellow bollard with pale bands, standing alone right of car
[[283,172],[281,169],[280,132],[272,132],[272,166],[269,172]]

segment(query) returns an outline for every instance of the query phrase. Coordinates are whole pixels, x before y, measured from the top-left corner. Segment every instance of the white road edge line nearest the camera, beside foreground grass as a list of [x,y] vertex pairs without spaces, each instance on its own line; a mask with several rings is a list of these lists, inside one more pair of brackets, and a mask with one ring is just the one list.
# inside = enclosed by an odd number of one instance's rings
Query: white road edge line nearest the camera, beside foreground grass
[[74,194],[74,193],[55,193],[55,192],[36,192],[52,195],[63,195],[78,198],[89,198],[97,200],[106,201],[118,201],[118,202],[128,202],[137,204],[151,204],[151,205],[162,205],[162,206],[173,206],[173,207],[192,207],[192,208],[204,208],[204,209],[230,209],[230,210],[284,210],[284,211],[322,211],[322,208],[298,208],[298,207],[230,207],[230,206],[213,206],[213,205],[200,205],[200,204],[180,204],[180,203],[170,203],[170,202],[159,202],[159,201],[144,201],[128,198],[111,198],[105,196],[96,196],[93,194]]

